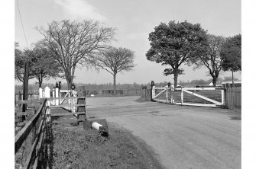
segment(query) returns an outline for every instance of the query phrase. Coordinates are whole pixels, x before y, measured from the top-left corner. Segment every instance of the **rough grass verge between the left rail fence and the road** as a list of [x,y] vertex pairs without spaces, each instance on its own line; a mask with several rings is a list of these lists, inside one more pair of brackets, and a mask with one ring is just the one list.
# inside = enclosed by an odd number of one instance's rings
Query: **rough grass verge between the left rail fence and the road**
[[53,168],[161,168],[121,129],[109,126],[109,134],[53,125]]

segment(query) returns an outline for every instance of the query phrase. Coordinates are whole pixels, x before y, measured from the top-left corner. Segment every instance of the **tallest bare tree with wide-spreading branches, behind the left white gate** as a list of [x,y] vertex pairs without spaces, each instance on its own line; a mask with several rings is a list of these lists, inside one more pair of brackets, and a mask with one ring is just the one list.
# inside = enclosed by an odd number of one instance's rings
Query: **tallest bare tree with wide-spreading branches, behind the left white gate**
[[44,35],[44,44],[54,53],[53,58],[61,65],[70,88],[78,64],[88,64],[92,53],[105,49],[113,40],[115,29],[102,27],[98,21],[53,21],[37,30]]

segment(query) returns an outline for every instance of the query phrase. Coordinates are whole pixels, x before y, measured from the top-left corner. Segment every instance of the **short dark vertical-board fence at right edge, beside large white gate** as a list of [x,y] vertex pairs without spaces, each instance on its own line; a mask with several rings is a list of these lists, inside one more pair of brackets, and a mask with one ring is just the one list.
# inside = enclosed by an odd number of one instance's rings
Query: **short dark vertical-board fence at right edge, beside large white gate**
[[225,107],[241,109],[241,88],[226,88]]

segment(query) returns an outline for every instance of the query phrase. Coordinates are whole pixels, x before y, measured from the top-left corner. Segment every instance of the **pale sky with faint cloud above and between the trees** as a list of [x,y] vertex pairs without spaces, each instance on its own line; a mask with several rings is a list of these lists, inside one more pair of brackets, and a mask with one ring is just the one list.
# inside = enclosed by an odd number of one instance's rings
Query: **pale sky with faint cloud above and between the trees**
[[[116,47],[125,47],[134,51],[134,70],[117,75],[117,83],[145,84],[152,80],[156,82],[173,82],[173,75],[164,76],[167,66],[150,62],[145,53],[150,49],[148,34],[161,22],[188,21],[199,23],[203,29],[223,37],[232,37],[241,33],[241,1],[240,0],[129,0],[129,1],[103,1],[103,0],[18,0],[24,32],[31,43],[43,37],[35,27],[46,27],[51,21],[63,19],[78,20],[94,19],[100,21],[105,27],[115,27]],[[15,41],[20,49],[27,48],[21,19],[15,1]],[[205,68],[193,69],[183,65],[184,75],[179,75],[178,81],[191,81],[193,79],[208,80],[211,77]],[[231,76],[231,72],[222,72],[221,78]],[[77,68],[74,82],[83,83],[112,83],[112,75],[101,70]],[[241,72],[235,72],[235,78],[241,79]],[[44,81],[53,83],[60,79]],[[65,80],[61,80],[66,82]],[[34,81],[30,80],[30,83]],[[18,81],[15,81],[15,84]]]

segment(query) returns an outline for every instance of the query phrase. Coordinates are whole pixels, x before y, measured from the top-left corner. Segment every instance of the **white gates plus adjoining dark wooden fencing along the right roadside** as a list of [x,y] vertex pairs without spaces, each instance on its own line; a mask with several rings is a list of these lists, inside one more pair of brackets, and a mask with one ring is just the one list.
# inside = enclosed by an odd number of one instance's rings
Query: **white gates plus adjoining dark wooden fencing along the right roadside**
[[167,86],[164,88],[154,87],[153,81],[153,83],[151,82],[151,89],[142,89],[141,98],[167,104],[241,109],[241,87],[173,88],[170,90]]

